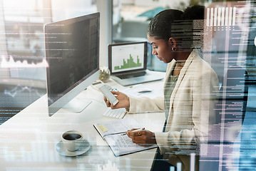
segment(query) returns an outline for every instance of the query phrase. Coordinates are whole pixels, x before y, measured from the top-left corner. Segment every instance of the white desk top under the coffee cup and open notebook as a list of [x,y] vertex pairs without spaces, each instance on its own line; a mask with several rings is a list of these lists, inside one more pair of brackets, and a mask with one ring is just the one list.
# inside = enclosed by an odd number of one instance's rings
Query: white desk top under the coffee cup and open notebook
[[[164,74],[164,73],[163,73]],[[124,89],[115,81],[108,86]],[[153,86],[163,81],[145,83]],[[0,126],[0,170],[150,170],[155,149],[115,157],[110,147],[101,138],[94,123],[113,120],[104,118],[106,105],[103,95],[89,86],[77,98],[91,98],[93,102],[81,113],[59,110],[48,117],[47,97],[36,100],[20,113]],[[161,131],[164,113],[127,114],[153,132]],[[66,130],[78,130],[91,143],[91,149],[76,157],[66,157],[56,152],[56,144]]]

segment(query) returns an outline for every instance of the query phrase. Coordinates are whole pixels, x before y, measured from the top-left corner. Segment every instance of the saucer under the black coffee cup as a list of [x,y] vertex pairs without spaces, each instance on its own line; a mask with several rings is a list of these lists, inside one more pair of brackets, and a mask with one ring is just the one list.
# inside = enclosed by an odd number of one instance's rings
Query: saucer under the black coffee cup
[[82,145],[81,147],[76,150],[76,151],[68,151],[63,145],[63,142],[60,141],[56,144],[56,150],[60,155],[66,155],[66,156],[76,156],[76,155],[81,155],[84,152],[87,152],[90,149],[91,145],[87,140],[82,140]]

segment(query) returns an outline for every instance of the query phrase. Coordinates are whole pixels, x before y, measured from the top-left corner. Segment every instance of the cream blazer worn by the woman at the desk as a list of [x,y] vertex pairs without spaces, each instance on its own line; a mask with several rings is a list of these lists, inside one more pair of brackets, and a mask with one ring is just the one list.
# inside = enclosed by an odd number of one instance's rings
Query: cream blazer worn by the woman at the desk
[[[165,85],[175,60],[168,63]],[[165,87],[164,87],[165,88]],[[155,133],[160,153],[170,164],[182,163],[190,170],[190,153],[199,153],[200,142],[207,140],[209,121],[215,122],[215,95],[219,89],[217,75],[210,65],[190,53],[180,70],[178,81],[170,96],[170,110],[165,133]],[[162,98],[130,98],[129,113],[164,110]]]

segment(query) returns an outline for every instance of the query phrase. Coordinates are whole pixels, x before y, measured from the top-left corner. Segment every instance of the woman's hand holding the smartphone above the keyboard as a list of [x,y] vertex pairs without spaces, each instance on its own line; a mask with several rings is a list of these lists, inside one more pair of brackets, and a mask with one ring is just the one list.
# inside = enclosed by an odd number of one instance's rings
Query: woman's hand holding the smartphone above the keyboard
[[116,96],[118,99],[118,103],[116,105],[113,105],[107,98],[104,96],[104,101],[108,107],[111,107],[111,109],[117,109],[117,108],[129,108],[130,107],[130,100],[128,96],[121,92],[111,91],[113,95]]

